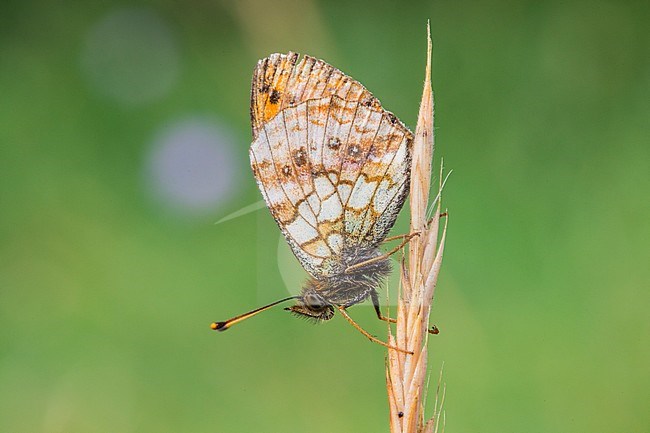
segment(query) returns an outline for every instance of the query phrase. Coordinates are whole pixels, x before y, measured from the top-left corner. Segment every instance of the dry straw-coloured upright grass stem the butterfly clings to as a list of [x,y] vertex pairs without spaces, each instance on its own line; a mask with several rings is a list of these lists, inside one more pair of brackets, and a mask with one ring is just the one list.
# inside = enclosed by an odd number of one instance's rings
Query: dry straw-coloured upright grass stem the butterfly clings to
[[[412,351],[413,355],[396,350],[388,351],[386,385],[390,406],[390,428],[393,433],[438,431],[441,419],[440,406],[436,404],[433,417],[425,421],[423,403],[426,390],[429,311],[442,264],[448,222],[447,217],[438,243],[440,199],[437,200],[433,218],[430,223],[427,223],[434,149],[434,103],[430,79],[431,37],[428,26],[427,34],[427,66],[413,142],[409,202],[411,233],[419,232],[421,235],[414,237],[409,244],[408,266],[402,262],[396,332],[393,335],[389,331],[390,344]],[[438,197],[443,185],[442,168],[440,174]],[[436,400],[437,397],[436,395]]]

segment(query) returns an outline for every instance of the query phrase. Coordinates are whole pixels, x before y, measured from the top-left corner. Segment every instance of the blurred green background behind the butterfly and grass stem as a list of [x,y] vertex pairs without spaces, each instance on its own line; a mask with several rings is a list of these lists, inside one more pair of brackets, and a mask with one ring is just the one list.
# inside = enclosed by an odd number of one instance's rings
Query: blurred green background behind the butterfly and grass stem
[[215,222],[261,199],[258,59],[323,58],[413,128],[427,18],[446,431],[650,431],[649,9],[3,1],[0,431],[388,431],[385,351],[340,318],[210,331],[305,276],[266,209]]

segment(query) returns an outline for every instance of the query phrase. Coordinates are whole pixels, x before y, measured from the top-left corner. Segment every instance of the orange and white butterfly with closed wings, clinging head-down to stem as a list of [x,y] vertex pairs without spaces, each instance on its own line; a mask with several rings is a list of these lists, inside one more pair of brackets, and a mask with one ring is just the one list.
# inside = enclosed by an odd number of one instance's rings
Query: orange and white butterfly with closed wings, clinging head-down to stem
[[[361,83],[314,57],[272,54],[260,60],[251,89],[253,175],[280,231],[310,275],[299,296],[212,323],[230,326],[281,302],[317,321],[371,298],[389,256],[412,235],[387,238],[409,192],[413,134]],[[386,241],[402,243],[388,253]],[[435,332],[432,332],[435,333]],[[389,346],[392,347],[392,346]]]

